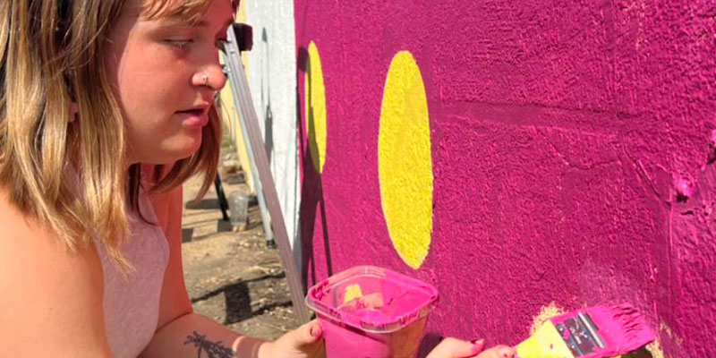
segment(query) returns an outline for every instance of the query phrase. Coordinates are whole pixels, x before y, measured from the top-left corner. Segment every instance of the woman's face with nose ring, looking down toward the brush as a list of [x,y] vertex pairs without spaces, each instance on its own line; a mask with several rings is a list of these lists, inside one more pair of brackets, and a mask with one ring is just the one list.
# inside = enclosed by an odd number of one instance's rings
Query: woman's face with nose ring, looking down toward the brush
[[124,116],[130,162],[166,164],[201,145],[214,94],[226,84],[217,50],[233,9],[230,0],[213,0],[192,24],[147,19],[140,14],[145,1],[150,0],[124,5],[109,36],[107,69]]

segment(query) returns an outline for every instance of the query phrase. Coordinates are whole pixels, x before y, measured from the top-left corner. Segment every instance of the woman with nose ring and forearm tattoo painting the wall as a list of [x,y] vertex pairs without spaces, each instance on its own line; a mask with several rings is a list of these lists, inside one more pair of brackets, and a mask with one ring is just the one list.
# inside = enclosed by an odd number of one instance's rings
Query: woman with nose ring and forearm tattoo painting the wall
[[235,5],[0,3],[0,355],[323,354],[316,321],[263,342],[194,314],[184,287],[181,184],[215,175]]

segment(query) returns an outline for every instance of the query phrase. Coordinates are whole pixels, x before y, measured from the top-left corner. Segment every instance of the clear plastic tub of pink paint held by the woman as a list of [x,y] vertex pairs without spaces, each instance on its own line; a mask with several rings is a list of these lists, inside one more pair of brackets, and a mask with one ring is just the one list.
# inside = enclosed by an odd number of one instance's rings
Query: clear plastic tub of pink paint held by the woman
[[386,268],[349,268],[312,286],[306,304],[328,358],[414,358],[438,290]]

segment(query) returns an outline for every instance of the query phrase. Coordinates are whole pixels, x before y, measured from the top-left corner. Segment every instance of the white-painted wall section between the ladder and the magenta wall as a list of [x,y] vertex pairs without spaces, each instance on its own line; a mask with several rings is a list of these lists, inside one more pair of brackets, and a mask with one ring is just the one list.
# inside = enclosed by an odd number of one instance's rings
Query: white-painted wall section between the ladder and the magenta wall
[[298,239],[301,201],[296,135],[296,57],[294,4],[283,0],[245,2],[246,21],[253,30],[247,53],[251,97],[259,117],[271,173],[286,222],[289,241]]

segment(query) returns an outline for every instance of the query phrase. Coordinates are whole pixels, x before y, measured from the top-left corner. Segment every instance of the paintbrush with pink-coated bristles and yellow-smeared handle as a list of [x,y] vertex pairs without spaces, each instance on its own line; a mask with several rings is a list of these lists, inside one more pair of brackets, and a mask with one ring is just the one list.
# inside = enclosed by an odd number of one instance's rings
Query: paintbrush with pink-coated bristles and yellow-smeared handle
[[553,317],[516,349],[519,358],[602,358],[627,354],[653,340],[644,316],[622,303]]

